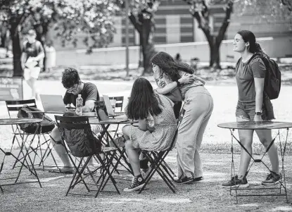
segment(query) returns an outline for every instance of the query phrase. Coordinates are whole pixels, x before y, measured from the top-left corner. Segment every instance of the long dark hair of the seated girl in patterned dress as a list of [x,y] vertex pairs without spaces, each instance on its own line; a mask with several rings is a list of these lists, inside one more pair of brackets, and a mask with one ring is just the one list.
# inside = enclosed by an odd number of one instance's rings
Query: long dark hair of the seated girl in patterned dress
[[162,112],[159,104],[158,96],[154,94],[150,82],[143,77],[139,77],[132,87],[126,108],[127,116],[134,120],[145,119],[149,113],[152,116],[157,116]]

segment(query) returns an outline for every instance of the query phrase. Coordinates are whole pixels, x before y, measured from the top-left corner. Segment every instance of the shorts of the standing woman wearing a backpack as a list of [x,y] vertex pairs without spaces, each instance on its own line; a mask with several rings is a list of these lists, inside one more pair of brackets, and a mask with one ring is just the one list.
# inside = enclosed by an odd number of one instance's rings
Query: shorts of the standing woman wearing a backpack
[[[246,118],[248,120],[254,120],[255,118],[255,101],[251,102],[237,102],[236,117]],[[262,104],[262,120],[268,120],[267,109],[265,104]]]

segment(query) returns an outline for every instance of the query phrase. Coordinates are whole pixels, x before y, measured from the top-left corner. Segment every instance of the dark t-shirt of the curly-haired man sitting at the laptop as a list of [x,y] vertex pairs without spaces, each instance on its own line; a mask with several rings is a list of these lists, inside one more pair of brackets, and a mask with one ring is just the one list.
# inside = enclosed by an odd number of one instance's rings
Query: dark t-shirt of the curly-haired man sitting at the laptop
[[[88,101],[88,100],[99,101],[99,92],[97,90],[97,87],[91,82],[84,83],[84,87],[80,94],[83,99],[83,106],[85,105],[85,101]],[[77,97],[78,97],[78,94],[75,95],[75,94],[66,92],[63,98],[64,104],[72,103],[74,106],[76,106]]]

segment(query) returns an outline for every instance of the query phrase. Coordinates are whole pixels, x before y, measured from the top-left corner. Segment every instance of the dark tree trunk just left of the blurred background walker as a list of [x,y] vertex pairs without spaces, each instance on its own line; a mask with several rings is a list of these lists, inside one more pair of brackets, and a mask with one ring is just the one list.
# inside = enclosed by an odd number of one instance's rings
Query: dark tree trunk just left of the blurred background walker
[[12,53],[13,53],[13,77],[23,77],[23,68],[21,68],[21,48],[20,37],[18,33],[18,24],[11,23],[11,39],[12,39]]

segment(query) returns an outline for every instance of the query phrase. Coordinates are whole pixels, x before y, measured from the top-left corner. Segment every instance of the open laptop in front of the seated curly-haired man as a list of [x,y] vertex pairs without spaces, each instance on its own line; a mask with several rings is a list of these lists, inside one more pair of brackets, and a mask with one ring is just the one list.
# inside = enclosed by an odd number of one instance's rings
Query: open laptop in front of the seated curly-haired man
[[61,95],[39,94],[46,113],[65,113],[66,107]]

